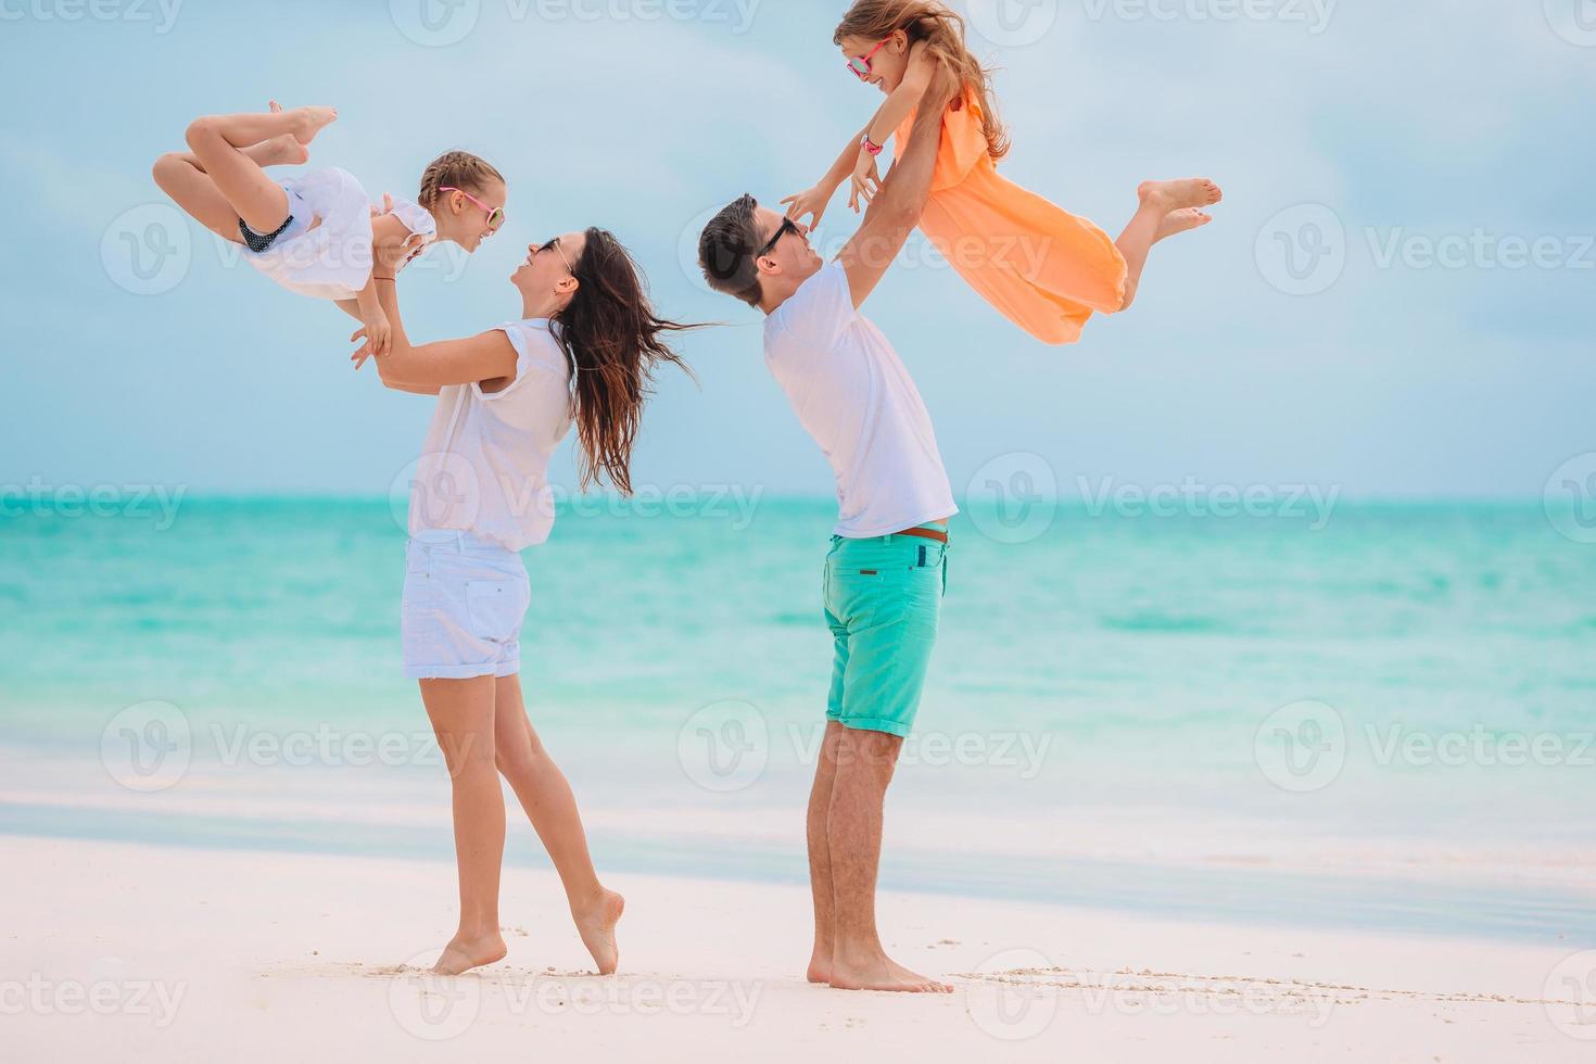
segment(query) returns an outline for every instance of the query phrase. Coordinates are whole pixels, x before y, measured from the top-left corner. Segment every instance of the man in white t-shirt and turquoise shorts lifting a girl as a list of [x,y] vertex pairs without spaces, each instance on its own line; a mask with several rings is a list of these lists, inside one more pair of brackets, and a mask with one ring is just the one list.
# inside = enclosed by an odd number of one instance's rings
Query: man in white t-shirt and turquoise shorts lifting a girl
[[832,265],[809,246],[808,227],[752,196],[721,211],[699,241],[710,286],[764,311],[766,365],[836,474],[841,514],[825,565],[836,649],[809,796],[808,978],[839,989],[951,989],[881,948],[876,869],[883,801],[930,664],[958,507],[919,391],[859,308],[926,206],[953,88],[938,78],[927,91],[903,158]]

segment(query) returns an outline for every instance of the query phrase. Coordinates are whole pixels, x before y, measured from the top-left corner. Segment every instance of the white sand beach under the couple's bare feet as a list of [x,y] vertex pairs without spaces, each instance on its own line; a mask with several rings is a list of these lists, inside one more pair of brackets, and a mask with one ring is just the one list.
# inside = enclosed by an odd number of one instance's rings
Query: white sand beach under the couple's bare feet
[[[506,962],[425,965],[453,868],[0,839],[6,1059],[1588,1061],[1596,954],[883,897],[889,949],[953,995],[803,981],[801,887],[618,876],[621,973],[552,873],[504,874]],[[433,952],[429,952],[433,951]]]

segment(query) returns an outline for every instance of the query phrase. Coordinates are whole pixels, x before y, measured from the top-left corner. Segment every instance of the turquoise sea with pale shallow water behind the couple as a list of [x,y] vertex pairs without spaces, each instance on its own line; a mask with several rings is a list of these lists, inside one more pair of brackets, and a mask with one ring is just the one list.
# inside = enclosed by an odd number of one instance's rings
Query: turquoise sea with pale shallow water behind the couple
[[[394,510],[13,507],[0,831],[447,860]],[[527,552],[530,713],[605,866],[803,879],[832,515],[581,499]],[[953,536],[886,885],[1596,943],[1596,544],[1539,502]]]

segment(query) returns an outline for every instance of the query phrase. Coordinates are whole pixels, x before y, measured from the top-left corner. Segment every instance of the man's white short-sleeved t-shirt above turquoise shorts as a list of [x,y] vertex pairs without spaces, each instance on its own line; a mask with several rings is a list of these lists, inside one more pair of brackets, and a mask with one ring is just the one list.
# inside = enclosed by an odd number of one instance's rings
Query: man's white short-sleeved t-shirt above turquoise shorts
[[832,263],[764,319],[764,364],[836,474],[835,533],[886,536],[958,512],[919,389]]

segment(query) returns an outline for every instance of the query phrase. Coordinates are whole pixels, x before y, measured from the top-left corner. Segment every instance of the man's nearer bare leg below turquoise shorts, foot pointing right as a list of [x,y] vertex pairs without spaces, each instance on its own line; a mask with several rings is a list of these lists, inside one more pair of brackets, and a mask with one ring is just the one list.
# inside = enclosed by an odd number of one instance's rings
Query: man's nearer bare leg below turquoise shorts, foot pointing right
[[951,992],[887,957],[876,930],[881,815],[903,740],[851,727],[839,732],[827,822],[835,898],[830,983],[839,991]]

